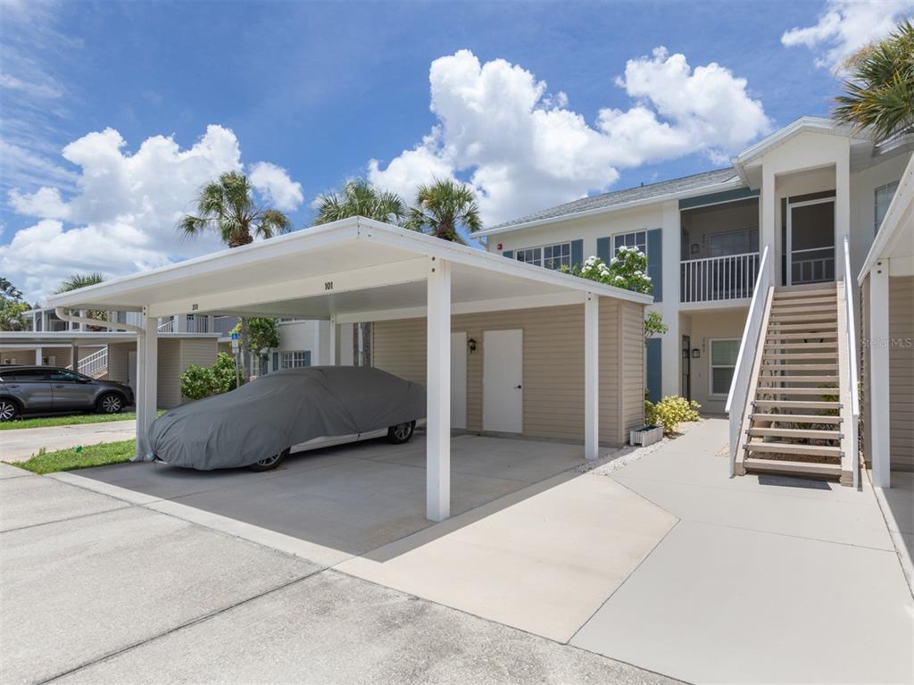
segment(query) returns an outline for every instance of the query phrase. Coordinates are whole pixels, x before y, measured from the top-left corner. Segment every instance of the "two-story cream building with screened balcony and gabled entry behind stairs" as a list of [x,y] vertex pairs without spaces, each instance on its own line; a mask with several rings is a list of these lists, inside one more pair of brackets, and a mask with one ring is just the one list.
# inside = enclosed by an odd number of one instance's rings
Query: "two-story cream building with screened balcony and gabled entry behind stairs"
[[721,413],[762,252],[770,252],[771,285],[834,283],[845,277],[847,236],[858,271],[911,149],[910,136],[874,144],[866,133],[803,117],[732,166],[581,198],[477,235],[489,252],[547,269],[589,255],[609,262],[622,245],[645,252],[651,308],[669,326],[648,343],[649,394],[682,395]]

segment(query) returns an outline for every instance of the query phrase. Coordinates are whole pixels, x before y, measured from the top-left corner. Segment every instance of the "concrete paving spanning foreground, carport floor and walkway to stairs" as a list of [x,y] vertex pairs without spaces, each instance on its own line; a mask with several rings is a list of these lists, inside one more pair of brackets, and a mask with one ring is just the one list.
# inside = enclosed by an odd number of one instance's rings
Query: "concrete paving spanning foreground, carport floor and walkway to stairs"
[[910,682],[872,488],[729,479],[726,442],[582,475],[573,445],[462,436],[435,525],[420,440],[7,477],[0,680]]

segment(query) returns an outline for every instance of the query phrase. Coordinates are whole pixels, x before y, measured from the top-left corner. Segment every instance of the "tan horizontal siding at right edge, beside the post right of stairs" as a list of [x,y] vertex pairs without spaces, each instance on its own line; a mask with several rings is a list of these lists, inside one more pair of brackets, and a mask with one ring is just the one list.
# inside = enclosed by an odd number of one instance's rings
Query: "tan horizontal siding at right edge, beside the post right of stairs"
[[914,276],[888,279],[888,425],[893,468],[914,467]]

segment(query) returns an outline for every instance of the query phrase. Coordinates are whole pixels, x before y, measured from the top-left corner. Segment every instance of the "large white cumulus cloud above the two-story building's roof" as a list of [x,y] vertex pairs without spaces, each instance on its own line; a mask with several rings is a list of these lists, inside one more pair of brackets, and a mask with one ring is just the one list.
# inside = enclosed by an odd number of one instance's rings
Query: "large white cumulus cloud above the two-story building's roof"
[[591,124],[530,71],[460,50],[431,63],[438,122],[387,166],[369,161],[368,178],[411,201],[420,183],[467,175],[492,225],[603,190],[621,167],[695,152],[724,159],[771,128],[746,80],[713,62],[692,70],[664,48],[630,60],[616,85],[632,107]]

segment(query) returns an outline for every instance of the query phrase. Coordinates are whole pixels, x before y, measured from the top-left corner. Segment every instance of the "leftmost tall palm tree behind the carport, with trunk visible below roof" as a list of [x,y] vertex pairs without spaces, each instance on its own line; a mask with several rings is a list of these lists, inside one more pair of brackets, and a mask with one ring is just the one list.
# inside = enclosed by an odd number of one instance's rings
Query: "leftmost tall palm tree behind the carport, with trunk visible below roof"
[[[268,209],[254,202],[250,182],[244,174],[228,171],[200,189],[197,216],[187,214],[177,222],[176,229],[187,236],[197,236],[205,230],[218,231],[229,248],[240,247],[254,238],[272,238],[292,230],[292,221],[279,209]],[[245,379],[250,378],[248,354],[248,319],[241,318],[241,366]]]

